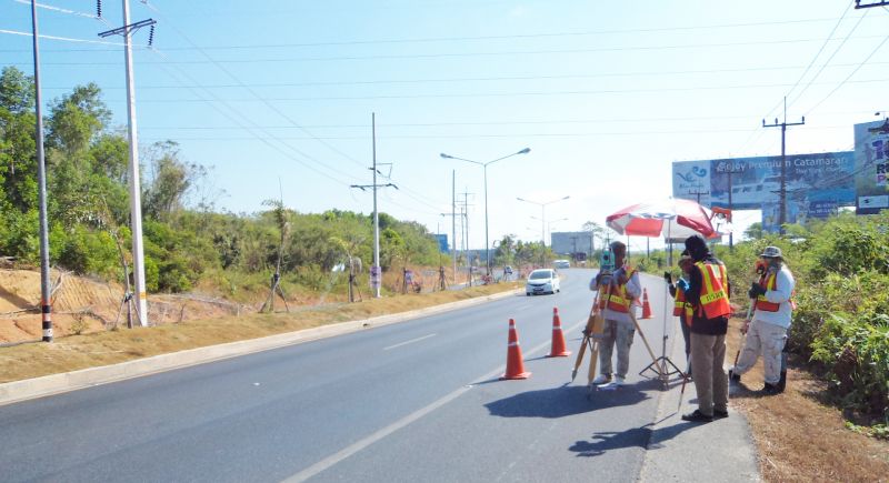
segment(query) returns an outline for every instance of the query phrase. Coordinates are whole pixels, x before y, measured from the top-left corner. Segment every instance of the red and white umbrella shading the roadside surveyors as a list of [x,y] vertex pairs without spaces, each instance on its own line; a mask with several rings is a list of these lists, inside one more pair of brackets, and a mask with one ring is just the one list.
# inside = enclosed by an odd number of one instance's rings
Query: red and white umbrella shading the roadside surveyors
[[713,228],[712,218],[707,208],[675,198],[627,207],[606,218],[606,224],[620,234],[633,237],[679,240],[700,234],[715,238],[720,233]]

